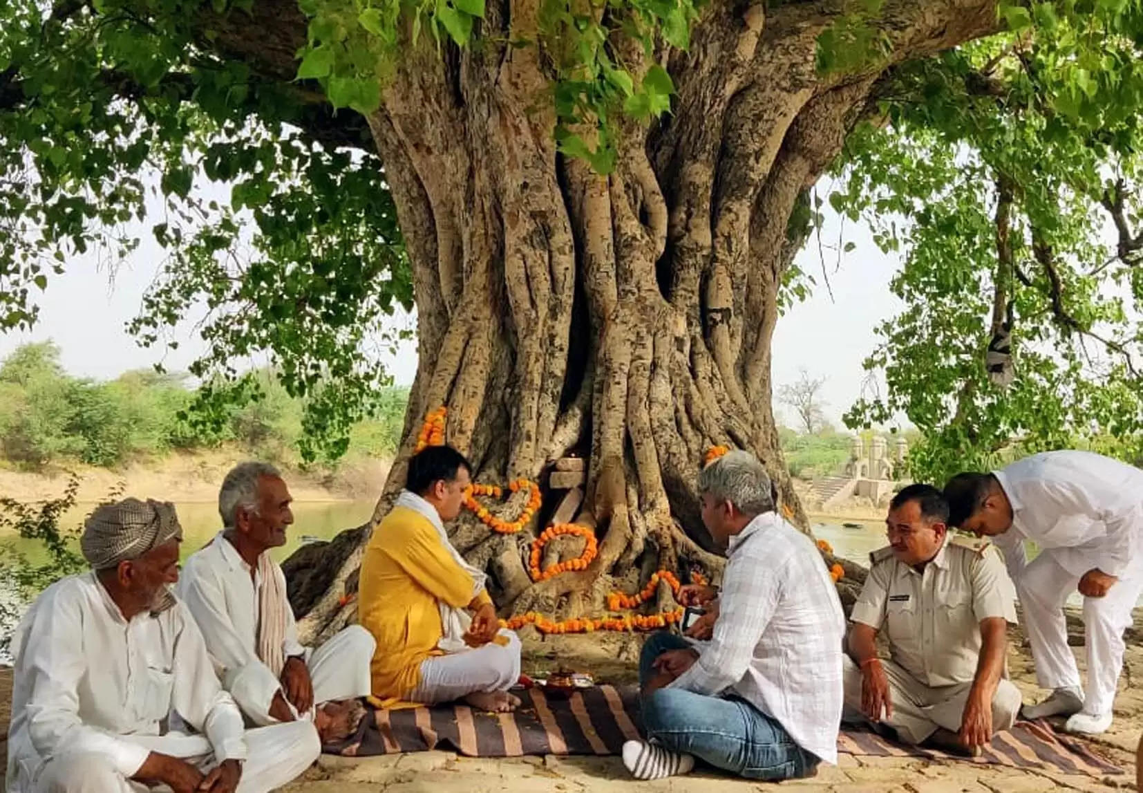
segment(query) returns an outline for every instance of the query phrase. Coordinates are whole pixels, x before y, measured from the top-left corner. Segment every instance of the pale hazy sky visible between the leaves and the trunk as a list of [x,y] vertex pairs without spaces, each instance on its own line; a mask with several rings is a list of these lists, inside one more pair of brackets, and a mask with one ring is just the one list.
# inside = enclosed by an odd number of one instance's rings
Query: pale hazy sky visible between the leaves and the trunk
[[[822,279],[817,240],[812,238],[799,263],[815,276],[818,286],[810,300],[778,320],[774,338],[775,386],[797,380],[801,368],[825,378],[826,414],[836,423],[861,391],[861,364],[877,343],[873,328],[898,309],[888,293],[898,260],[881,254],[863,227],[847,223],[845,233],[856,247],[842,256],[840,268],[837,252],[824,251],[833,300]],[[40,296],[40,320],[34,330],[0,333],[0,357],[24,342],[51,339],[62,350],[66,370],[80,376],[112,379],[125,370],[157,362],[170,371],[185,368],[201,349],[192,328],[179,328],[178,349],[167,350],[138,347],[125,327],[137,314],[163,255],[149,232],[142,238],[139,248],[114,273],[101,267],[95,254],[73,259],[66,273],[51,278]],[[837,217],[828,211],[823,243],[836,244],[837,239]],[[411,382],[416,371],[413,343],[390,364],[397,382]]]

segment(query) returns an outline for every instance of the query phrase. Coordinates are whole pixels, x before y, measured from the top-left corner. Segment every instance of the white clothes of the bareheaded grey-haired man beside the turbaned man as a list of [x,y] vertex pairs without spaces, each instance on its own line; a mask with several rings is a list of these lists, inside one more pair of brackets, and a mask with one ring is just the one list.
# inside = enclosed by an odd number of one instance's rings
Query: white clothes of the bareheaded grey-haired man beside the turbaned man
[[[272,568],[285,593],[286,577],[280,566],[273,564]],[[257,655],[261,586],[257,570],[251,576],[250,565],[219,532],[186,560],[178,594],[202,631],[223,688],[253,723],[272,724],[270,706],[280,683]],[[305,659],[314,703],[369,696],[369,661],[376,647],[373,635],[352,625],[311,650],[297,640],[297,625],[289,603],[283,603],[282,609],[287,616],[282,652],[287,658],[301,656]]]

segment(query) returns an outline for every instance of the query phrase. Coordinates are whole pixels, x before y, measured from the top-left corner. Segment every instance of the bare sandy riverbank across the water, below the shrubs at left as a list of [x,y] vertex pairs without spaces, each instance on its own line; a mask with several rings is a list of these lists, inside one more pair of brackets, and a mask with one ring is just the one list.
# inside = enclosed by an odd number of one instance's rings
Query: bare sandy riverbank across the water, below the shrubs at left
[[[59,497],[69,471],[80,477],[78,500],[104,500],[112,491],[149,495],[168,501],[210,502],[218,498],[218,484],[235,463],[249,459],[241,451],[171,454],[162,460],[129,465],[119,470],[74,465],[27,473],[0,468],[0,495],[18,501],[42,501]],[[381,492],[387,460],[346,462],[335,473],[287,470],[290,490],[298,501],[374,499]]]

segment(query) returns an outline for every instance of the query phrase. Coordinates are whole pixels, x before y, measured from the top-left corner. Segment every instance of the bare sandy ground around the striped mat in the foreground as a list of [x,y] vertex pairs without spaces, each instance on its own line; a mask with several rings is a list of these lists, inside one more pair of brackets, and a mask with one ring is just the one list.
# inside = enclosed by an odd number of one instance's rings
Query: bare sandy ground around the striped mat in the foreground
[[[1143,628],[1143,609],[1136,611],[1136,629]],[[529,629],[530,632],[530,629]],[[555,636],[542,641],[525,635],[525,671],[549,672],[559,666],[589,669],[600,681],[631,682],[641,641],[621,634]],[[1009,671],[1025,693],[1025,700],[1041,696],[1032,675],[1026,648],[1014,636]],[[1078,648],[1077,648],[1078,649]],[[1080,658],[1082,668],[1082,658]],[[1135,788],[1134,751],[1143,729],[1143,647],[1128,648],[1116,722],[1095,743],[1100,752],[1128,774],[1094,778],[1044,771],[1017,771],[961,762],[936,763],[895,758],[841,755],[839,766],[823,766],[813,779],[782,783],[797,793],[846,791],[847,793],[1040,793],[1041,791],[1110,791]],[[0,669],[0,728],[7,735],[11,701],[11,672]],[[6,743],[6,742],[5,742]],[[6,747],[5,747],[6,748]],[[0,760],[3,763],[6,758]],[[2,764],[0,764],[2,776]],[[382,758],[334,758],[323,755],[293,785],[290,793],[710,793],[711,786],[733,793],[760,791],[772,785],[733,779],[713,774],[694,774],[655,783],[633,782],[617,758],[522,758],[467,759],[447,752]]]

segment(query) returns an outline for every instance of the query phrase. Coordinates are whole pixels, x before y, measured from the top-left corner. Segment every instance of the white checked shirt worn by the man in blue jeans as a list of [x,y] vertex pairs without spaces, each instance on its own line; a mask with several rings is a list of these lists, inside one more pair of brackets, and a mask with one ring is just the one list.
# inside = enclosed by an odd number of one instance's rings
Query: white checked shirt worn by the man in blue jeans
[[730,539],[714,635],[671,688],[745,699],[838,761],[846,621],[822,555],[775,513]]

